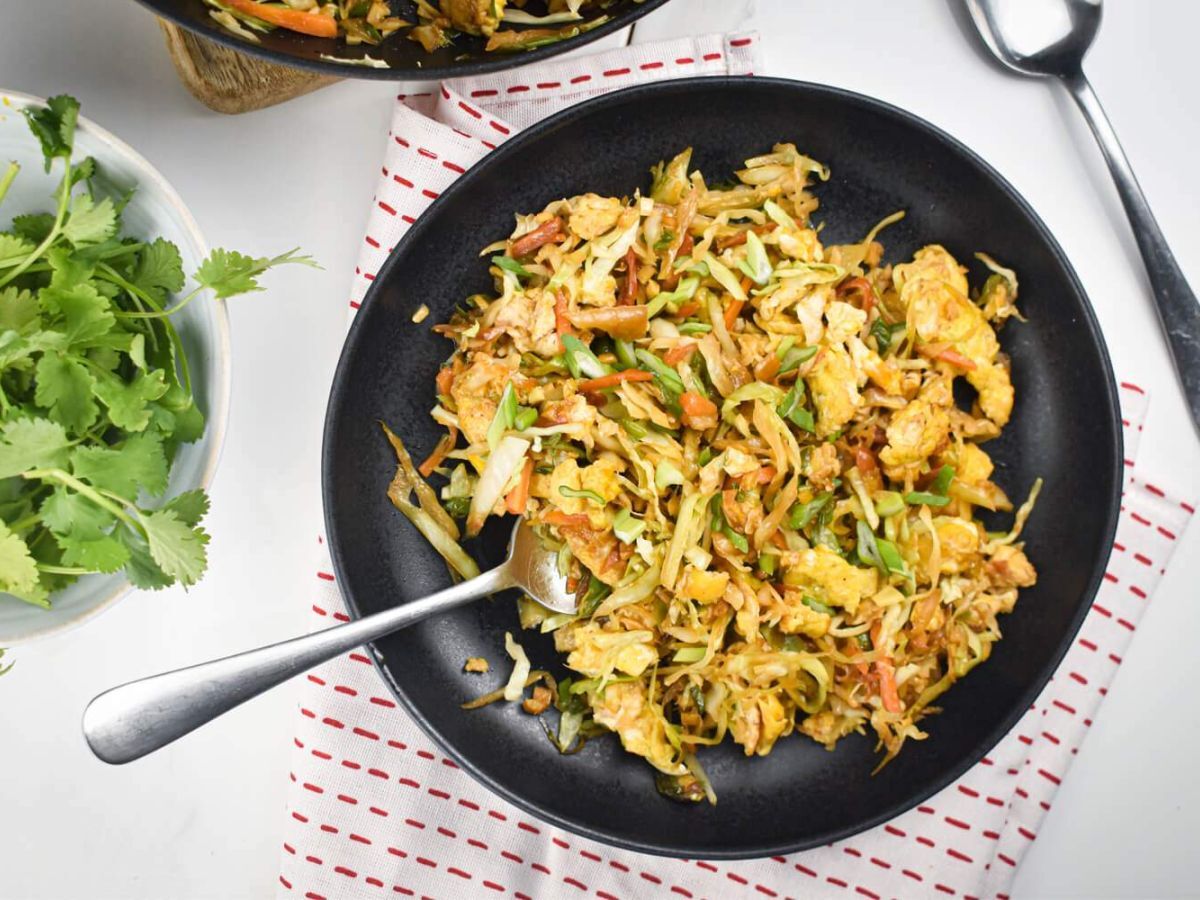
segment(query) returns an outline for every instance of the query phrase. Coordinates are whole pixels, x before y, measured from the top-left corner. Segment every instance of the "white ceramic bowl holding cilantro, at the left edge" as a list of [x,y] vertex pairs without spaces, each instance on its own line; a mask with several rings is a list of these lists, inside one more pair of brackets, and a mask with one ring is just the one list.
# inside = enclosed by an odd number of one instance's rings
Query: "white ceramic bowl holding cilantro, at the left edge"
[[[37,142],[20,110],[42,101],[0,90],[0,168],[10,160],[20,163],[20,174],[0,206],[0,228],[14,215],[46,211],[50,194],[62,176],[61,163],[46,174]],[[137,238],[163,236],[173,241],[184,259],[184,271],[196,270],[208,254],[200,229],[167,180],[119,138],[80,116],[76,131],[74,158],[94,156],[101,173],[116,187],[137,185],[125,208],[124,233]],[[204,436],[175,455],[168,496],[206,487],[216,472],[229,413],[229,316],[224,304],[211,298],[188,304],[175,318],[187,352],[192,386],[208,419]],[[131,589],[122,575],[89,575],[54,594],[52,608],[42,610],[0,593],[0,647],[60,634],[98,616]]]

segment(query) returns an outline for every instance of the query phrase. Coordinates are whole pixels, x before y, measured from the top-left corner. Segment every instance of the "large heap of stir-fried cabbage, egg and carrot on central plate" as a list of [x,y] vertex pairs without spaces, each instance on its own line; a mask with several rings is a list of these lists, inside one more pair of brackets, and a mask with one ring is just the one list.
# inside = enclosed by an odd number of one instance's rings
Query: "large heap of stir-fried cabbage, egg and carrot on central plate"
[[[398,439],[392,494],[463,576],[460,521],[533,524],[580,599],[521,601],[571,671],[546,676],[552,739],[612,731],[664,793],[712,799],[697,751],[726,738],[766,756],[874,732],[882,762],[924,738],[1037,578],[1019,536],[1040,482],[1009,530],[977,517],[1013,510],[982,446],[1013,410],[1013,271],[978,254],[972,289],[938,245],[886,264],[899,214],[822,242],[829,172],[791,144],[720,187],[690,162],[648,194],[518,215],[485,248],[494,293],[434,328],[455,342],[420,467],[440,502]],[[539,674],[524,660],[508,698]]]

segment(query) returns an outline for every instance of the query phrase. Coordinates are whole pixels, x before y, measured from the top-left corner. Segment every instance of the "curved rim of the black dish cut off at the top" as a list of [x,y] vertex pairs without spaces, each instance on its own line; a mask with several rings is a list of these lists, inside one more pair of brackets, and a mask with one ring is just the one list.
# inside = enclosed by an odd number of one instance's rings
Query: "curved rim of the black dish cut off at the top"
[[574,50],[576,47],[582,47],[586,43],[600,40],[605,35],[611,35],[623,28],[628,28],[648,12],[656,10],[667,1],[668,0],[642,0],[637,6],[626,10],[619,18],[613,19],[612,22],[606,22],[590,31],[584,31],[582,35],[576,35],[575,37],[570,37],[565,41],[558,41],[557,43],[551,43],[545,47],[538,47],[533,50],[523,50],[522,53],[512,54],[496,54],[494,59],[473,60],[470,62],[462,62],[454,66],[430,66],[428,68],[371,68],[367,66],[344,65],[331,60],[311,60],[302,56],[293,56],[290,53],[282,53],[280,50],[271,49],[270,47],[263,47],[262,44],[244,41],[221,28],[197,28],[196,22],[191,17],[179,12],[178,0],[138,0],[139,4],[150,10],[155,16],[169,19],[193,35],[198,35],[206,41],[215,41],[232,50],[238,50],[239,53],[246,53],[251,56],[268,60],[269,62],[276,62],[281,66],[292,66],[293,68],[306,68],[310,72],[319,72],[322,74],[334,74],[340,78],[359,78],[372,82],[413,83],[469,78],[472,76],[488,74],[491,72],[504,72],[510,68],[518,68],[521,66],[529,65],[532,62],[541,62],[551,56],[557,56],[560,53]]

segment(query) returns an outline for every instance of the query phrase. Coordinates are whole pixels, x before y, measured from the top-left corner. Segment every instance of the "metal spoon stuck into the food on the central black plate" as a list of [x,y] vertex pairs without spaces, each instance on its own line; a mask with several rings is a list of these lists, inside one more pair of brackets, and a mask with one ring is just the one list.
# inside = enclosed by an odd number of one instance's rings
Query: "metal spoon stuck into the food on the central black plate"
[[554,612],[576,608],[557,554],[518,522],[508,559],[491,571],[356,622],[113,688],[88,704],[83,734],[104,762],[131,762],[341,653],[506,588]]

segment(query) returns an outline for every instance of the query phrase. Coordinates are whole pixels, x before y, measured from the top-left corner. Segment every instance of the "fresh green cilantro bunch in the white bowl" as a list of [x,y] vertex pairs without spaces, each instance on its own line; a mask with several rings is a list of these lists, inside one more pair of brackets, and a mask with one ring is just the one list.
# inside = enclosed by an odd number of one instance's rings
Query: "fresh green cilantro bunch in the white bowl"
[[[52,212],[0,232],[0,592],[43,607],[89,572],[140,588],[204,574],[208,497],[162,497],[179,446],[204,433],[170,316],[205,292],[260,290],[281,263],[312,265],[216,250],[184,293],[174,244],[121,234],[132,192],[103,196],[95,160],[72,160],[78,115],[68,96],[25,110],[62,181]],[[0,202],[16,175],[0,172]]]

